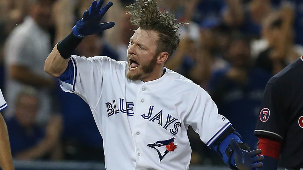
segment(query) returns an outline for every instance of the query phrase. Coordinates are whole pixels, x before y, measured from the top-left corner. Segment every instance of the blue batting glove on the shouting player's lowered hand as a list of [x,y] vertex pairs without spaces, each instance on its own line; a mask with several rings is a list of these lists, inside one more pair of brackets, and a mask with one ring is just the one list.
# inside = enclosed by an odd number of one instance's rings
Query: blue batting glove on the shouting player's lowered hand
[[256,149],[248,152],[239,147],[235,139],[230,140],[230,146],[235,154],[235,163],[240,170],[255,170],[257,168],[263,167],[263,163],[260,162],[264,160],[264,156],[261,154],[261,149]]

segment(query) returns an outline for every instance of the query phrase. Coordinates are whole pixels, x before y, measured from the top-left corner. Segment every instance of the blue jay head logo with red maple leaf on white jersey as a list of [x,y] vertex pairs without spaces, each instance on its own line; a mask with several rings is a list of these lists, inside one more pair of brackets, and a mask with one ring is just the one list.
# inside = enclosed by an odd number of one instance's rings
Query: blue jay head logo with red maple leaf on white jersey
[[160,162],[168,152],[174,151],[177,145],[174,143],[175,137],[168,140],[158,140],[155,143],[148,144],[147,146],[157,151]]

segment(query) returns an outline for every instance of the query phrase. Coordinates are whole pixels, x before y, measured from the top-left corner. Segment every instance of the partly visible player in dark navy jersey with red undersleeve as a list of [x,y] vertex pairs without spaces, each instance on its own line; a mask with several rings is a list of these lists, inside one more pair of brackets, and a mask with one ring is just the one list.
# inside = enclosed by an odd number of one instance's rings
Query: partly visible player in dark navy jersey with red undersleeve
[[260,116],[255,129],[258,148],[262,149],[264,168],[282,165],[303,170],[303,58],[289,64],[271,77],[265,87]]

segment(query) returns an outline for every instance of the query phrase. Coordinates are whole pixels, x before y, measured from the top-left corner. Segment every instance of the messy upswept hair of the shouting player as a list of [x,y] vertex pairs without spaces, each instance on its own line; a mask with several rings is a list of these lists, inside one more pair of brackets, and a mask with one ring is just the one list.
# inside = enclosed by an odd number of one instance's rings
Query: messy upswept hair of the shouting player
[[159,11],[157,3],[153,0],[135,0],[129,6],[128,14],[130,22],[144,30],[152,30],[158,33],[156,54],[168,52],[171,56],[177,49],[179,39],[179,26],[176,24],[174,15],[168,11]]

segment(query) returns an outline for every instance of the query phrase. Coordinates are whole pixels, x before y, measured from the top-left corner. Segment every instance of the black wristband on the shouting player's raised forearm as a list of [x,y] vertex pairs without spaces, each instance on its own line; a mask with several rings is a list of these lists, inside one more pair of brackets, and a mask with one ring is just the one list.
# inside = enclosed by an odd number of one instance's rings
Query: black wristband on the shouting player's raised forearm
[[71,57],[72,52],[81,43],[81,41],[82,38],[75,37],[75,35],[71,32],[70,34],[68,34],[68,36],[58,42],[57,50],[59,51],[62,58],[68,59],[69,57]]

